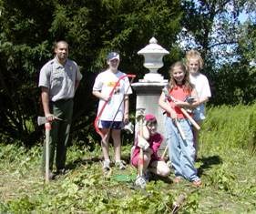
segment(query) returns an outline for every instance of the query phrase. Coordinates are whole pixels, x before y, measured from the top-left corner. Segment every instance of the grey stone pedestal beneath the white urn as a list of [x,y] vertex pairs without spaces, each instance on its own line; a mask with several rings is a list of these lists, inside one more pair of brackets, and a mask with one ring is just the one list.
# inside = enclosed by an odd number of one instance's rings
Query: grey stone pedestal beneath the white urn
[[[153,114],[158,119],[158,131],[165,137],[165,115],[163,110],[159,107],[159,96],[162,92],[162,88],[168,84],[168,80],[162,80],[161,82],[149,82],[140,80],[138,83],[133,83],[131,86],[135,90],[136,109],[145,108],[145,114]],[[137,125],[136,125],[137,127]],[[165,140],[162,143],[161,150],[166,146]]]

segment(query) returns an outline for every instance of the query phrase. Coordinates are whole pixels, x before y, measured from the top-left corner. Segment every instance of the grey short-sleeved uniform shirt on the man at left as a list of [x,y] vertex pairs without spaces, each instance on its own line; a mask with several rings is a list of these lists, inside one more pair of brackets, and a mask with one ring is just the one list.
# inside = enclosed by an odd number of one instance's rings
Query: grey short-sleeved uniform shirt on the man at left
[[82,75],[76,62],[67,59],[65,66],[62,66],[54,58],[40,70],[38,87],[47,87],[50,100],[55,102],[59,99],[73,98],[76,80],[81,79]]

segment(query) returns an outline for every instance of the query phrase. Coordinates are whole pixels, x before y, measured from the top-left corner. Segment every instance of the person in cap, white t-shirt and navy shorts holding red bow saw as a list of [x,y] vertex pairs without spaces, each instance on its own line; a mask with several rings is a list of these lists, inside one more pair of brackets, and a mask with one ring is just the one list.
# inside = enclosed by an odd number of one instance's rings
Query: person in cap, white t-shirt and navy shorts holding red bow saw
[[[105,139],[101,142],[104,162],[103,169],[110,169],[108,154],[109,136],[113,139],[115,152],[115,165],[125,169],[124,161],[121,160],[121,128],[128,123],[128,95],[132,93],[126,74],[118,70],[119,54],[110,52],[107,56],[108,69],[97,75],[93,86],[93,95],[99,98],[97,127],[101,129]],[[115,87],[114,93],[109,97]],[[106,103],[107,102],[107,103]],[[106,138],[107,137],[107,138]]]

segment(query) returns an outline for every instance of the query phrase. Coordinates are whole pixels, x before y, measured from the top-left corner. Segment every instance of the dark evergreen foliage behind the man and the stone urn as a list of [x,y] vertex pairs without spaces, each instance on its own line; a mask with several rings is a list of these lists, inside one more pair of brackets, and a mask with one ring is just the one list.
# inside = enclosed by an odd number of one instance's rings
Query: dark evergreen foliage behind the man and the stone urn
[[[92,129],[96,100],[91,87],[105,67],[109,50],[119,50],[121,69],[143,75],[140,48],[156,36],[170,50],[167,64],[178,59],[173,47],[181,18],[179,1],[146,0],[19,0],[0,1],[0,131],[31,145],[40,136],[36,117],[42,115],[37,87],[41,66],[53,57],[52,45],[65,39],[70,58],[84,78],[77,91],[73,130]],[[143,70],[145,71],[145,70]],[[84,131],[84,132],[83,132]],[[85,138],[85,136],[83,136]]]

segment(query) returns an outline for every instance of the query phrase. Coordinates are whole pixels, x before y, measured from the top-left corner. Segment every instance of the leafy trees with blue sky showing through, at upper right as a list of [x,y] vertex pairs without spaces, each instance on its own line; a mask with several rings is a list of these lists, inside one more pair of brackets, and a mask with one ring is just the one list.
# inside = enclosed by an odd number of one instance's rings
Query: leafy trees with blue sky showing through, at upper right
[[241,35],[248,28],[239,17],[241,13],[253,11],[254,2],[185,0],[182,6],[185,13],[180,36],[189,39],[185,49],[200,49],[206,63],[202,72],[210,78],[213,92],[211,103],[235,105],[253,101],[255,76],[250,74],[250,58],[245,56],[248,50],[242,44],[247,41],[249,45],[254,39],[253,34]]

